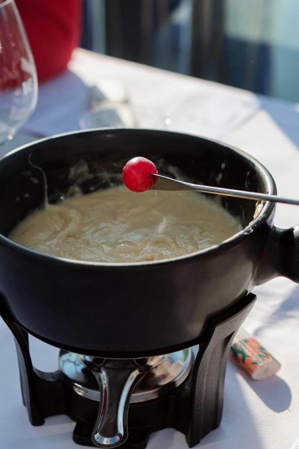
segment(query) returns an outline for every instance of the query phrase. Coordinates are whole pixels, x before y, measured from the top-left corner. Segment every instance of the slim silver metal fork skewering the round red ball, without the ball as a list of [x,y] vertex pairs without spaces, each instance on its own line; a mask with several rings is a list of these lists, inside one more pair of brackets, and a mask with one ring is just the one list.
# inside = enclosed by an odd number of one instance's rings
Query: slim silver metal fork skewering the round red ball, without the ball
[[202,186],[199,184],[191,184],[185,181],[168,178],[161,174],[151,174],[154,190],[198,190],[200,192],[212,193],[214,195],[233,196],[235,198],[245,198],[256,201],[271,201],[274,203],[294,204],[299,206],[299,200],[294,198],[284,198],[282,196],[270,195],[267,193],[248,192],[247,190],[223,189],[222,187]]

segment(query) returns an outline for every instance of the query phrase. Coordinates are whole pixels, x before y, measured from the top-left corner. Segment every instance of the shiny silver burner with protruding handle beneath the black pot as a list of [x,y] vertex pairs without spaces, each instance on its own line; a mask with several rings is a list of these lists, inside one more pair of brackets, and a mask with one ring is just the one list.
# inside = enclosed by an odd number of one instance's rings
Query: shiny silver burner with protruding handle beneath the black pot
[[186,379],[190,369],[191,349],[143,359],[99,359],[65,351],[59,357],[60,374],[70,389],[97,402],[92,414],[89,407],[86,415],[82,410],[79,414],[92,422],[99,411],[92,432],[99,447],[115,447],[127,439],[129,403],[164,396]]

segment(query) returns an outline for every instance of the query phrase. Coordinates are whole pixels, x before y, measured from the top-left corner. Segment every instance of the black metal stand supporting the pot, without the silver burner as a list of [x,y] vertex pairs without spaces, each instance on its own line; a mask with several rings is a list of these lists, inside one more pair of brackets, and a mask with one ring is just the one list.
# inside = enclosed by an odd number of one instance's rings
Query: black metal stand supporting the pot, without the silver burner
[[[167,427],[183,432],[191,448],[220,425],[230,346],[255,299],[254,294],[248,294],[208,321],[204,336],[198,342],[199,351],[192,360],[190,374],[180,386],[156,399],[130,404],[128,438],[121,444],[122,448],[143,449],[150,432]],[[23,404],[30,423],[41,426],[48,416],[67,414],[76,422],[73,440],[83,446],[94,446],[91,433],[97,419],[98,403],[70,389],[59,371],[44,373],[33,367],[28,333],[10,316],[3,303],[0,304],[1,317],[15,338]]]

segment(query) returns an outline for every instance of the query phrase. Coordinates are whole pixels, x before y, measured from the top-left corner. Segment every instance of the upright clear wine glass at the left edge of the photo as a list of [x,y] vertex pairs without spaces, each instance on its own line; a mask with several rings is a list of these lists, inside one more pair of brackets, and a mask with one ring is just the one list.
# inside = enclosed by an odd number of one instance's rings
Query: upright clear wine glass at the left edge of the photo
[[0,144],[13,138],[37,103],[33,55],[14,0],[0,0]]

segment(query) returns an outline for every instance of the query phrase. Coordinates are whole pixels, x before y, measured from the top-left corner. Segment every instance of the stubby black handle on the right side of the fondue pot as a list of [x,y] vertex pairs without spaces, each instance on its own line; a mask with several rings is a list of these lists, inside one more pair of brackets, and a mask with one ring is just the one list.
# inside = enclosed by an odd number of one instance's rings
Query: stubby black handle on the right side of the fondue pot
[[259,262],[255,284],[284,276],[299,283],[299,225],[289,229],[273,226]]

